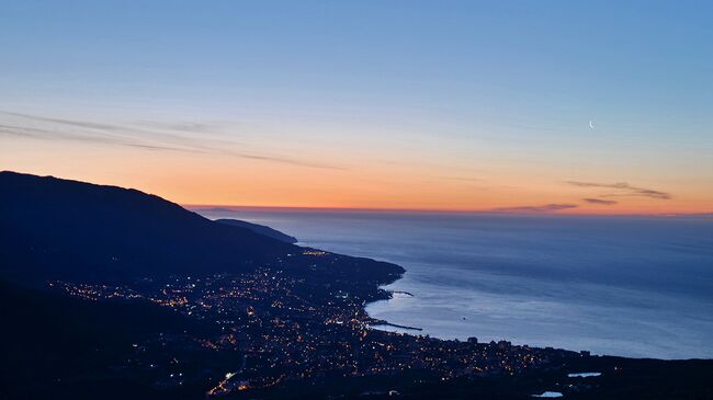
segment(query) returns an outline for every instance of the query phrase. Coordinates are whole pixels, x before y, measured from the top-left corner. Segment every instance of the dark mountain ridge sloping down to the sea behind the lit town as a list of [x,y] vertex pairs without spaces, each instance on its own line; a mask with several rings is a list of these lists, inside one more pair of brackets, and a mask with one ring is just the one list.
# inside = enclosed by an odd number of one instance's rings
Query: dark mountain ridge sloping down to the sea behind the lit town
[[315,279],[374,285],[392,282],[404,271],[331,253],[315,260],[304,248],[212,221],[136,190],[4,171],[0,193],[0,276],[23,284],[238,273],[265,266]]

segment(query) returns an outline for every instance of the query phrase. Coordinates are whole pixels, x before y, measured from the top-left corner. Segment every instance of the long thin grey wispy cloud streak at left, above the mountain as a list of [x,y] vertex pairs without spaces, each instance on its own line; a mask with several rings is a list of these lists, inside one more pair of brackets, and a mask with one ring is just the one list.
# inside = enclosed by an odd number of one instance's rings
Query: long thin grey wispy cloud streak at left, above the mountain
[[[242,151],[239,149],[239,142],[205,135],[210,132],[210,125],[199,123],[105,124],[0,111],[0,136],[84,141],[147,150],[204,152],[296,167],[346,169],[292,157]],[[195,137],[195,134],[201,134],[201,137]]]

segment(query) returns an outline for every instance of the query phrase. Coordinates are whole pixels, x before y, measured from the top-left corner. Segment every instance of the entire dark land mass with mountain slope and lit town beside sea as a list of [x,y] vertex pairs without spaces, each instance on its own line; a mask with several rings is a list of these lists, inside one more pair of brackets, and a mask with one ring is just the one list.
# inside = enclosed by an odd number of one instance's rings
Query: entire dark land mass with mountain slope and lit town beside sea
[[2,172],[0,193],[2,399],[713,398],[713,361],[374,330],[394,264],[138,191]]

